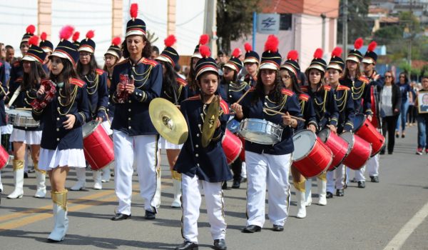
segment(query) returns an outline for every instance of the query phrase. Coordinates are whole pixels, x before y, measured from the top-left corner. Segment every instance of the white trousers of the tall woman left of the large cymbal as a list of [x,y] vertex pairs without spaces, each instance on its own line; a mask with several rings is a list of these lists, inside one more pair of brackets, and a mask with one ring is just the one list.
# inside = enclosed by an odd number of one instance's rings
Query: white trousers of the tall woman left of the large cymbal
[[156,192],[158,172],[158,136],[128,136],[113,130],[113,146],[116,166],[114,186],[119,205],[116,213],[131,214],[132,176],[134,159],[140,184],[140,195],[144,200],[144,209],[156,212],[153,197]]

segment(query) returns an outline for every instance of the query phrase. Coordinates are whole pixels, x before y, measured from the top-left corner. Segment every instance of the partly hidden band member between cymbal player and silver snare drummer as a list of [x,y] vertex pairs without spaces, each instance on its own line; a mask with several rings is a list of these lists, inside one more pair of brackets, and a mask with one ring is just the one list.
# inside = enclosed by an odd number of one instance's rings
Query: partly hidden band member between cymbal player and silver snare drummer
[[[239,81],[238,75],[243,69],[243,63],[240,61],[241,51],[240,49],[234,49],[232,52],[232,57],[230,60],[223,66],[223,76],[221,76],[221,81],[218,86],[218,94],[221,98],[231,105],[238,101],[241,96],[250,89],[250,86],[245,83],[245,81]],[[239,189],[241,182],[242,174],[242,164],[243,161],[238,157],[231,164],[231,169],[233,171],[233,189]],[[228,183],[223,184],[223,189],[227,189]]]

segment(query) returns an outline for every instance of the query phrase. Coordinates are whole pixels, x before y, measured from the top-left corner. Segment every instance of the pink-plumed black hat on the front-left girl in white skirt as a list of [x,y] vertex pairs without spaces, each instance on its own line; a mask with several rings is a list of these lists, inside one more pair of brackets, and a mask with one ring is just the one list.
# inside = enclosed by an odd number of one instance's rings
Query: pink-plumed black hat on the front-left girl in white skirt
[[76,65],[78,61],[78,51],[76,46],[68,41],[71,35],[73,34],[74,28],[72,26],[64,26],[61,31],[59,31],[59,44],[56,46],[54,52],[49,56],[51,59],[52,56],[58,56],[63,59],[71,61],[71,64]]

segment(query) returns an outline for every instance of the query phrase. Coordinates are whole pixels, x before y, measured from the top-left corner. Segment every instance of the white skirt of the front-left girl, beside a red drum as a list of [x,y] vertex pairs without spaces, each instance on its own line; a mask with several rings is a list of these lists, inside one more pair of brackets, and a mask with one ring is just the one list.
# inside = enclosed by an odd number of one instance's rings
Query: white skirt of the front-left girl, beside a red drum
[[58,166],[73,166],[76,168],[86,168],[85,154],[83,149],[55,150],[40,149],[39,169],[52,170]]

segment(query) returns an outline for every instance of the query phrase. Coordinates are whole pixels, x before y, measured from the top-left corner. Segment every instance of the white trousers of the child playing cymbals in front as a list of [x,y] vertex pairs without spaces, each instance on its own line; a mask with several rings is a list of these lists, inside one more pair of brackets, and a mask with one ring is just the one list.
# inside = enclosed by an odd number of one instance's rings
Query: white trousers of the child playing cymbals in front
[[183,238],[186,241],[198,243],[198,218],[201,191],[205,194],[208,221],[213,239],[225,239],[226,221],[224,214],[223,190],[221,182],[200,181],[198,176],[181,175],[182,204],[183,207]]

